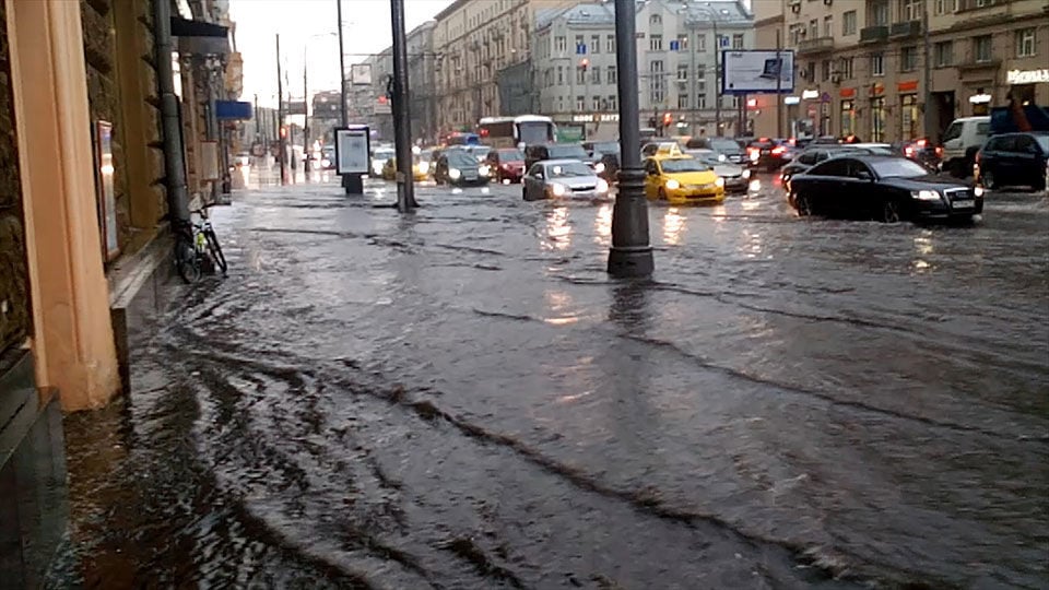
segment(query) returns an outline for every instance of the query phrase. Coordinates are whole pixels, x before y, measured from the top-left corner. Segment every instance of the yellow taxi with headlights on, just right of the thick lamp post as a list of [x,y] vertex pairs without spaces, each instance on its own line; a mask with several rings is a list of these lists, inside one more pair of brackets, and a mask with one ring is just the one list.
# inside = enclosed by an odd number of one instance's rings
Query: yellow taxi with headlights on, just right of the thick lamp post
[[724,179],[689,155],[645,158],[645,196],[673,204],[720,203]]

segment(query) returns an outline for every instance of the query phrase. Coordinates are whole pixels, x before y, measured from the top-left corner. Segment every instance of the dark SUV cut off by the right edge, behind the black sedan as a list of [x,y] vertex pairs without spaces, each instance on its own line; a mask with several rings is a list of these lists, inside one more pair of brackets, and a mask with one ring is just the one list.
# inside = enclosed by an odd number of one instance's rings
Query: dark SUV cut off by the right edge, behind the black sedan
[[976,154],[973,174],[986,189],[1004,186],[1046,188],[1049,132],[1030,131],[992,135]]

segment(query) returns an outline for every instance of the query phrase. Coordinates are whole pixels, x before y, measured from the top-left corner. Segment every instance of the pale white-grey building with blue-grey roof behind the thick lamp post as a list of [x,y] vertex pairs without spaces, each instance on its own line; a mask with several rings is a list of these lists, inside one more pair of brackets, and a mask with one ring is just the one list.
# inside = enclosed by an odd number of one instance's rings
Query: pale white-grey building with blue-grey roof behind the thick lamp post
[[[641,127],[670,133],[735,134],[740,104],[721,96],[721,49],[754,47],[752,14],[739,1],[646,0],[637,7],[636,43]],[[614,137],[618,120],[615,11],[611,2],[546,11],[533,35],[540,111],[582,127],[587,137]],[[632,72],[633,74],[633,72]]]

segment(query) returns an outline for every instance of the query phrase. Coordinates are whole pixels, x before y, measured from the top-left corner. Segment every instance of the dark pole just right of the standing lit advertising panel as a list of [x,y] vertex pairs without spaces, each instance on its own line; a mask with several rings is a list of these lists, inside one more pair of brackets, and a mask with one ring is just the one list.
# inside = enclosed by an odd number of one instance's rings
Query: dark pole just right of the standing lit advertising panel
[[397,152],[397,209],[406,212],[415,202],[412,175],[412,116],[408,102],[408,39],[404,35],[404,0],[390,0],[393,25],[393,138]]

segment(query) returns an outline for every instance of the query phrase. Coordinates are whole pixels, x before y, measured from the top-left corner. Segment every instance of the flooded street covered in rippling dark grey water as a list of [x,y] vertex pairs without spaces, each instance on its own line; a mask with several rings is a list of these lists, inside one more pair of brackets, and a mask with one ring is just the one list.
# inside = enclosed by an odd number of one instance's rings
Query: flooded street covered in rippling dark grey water
[[133,394],[66,418],[81,583],[1046,587],[1045,197],[655,205],[630,284],[611,202],[369,190],[214,210],[229,276],[170,287]]

